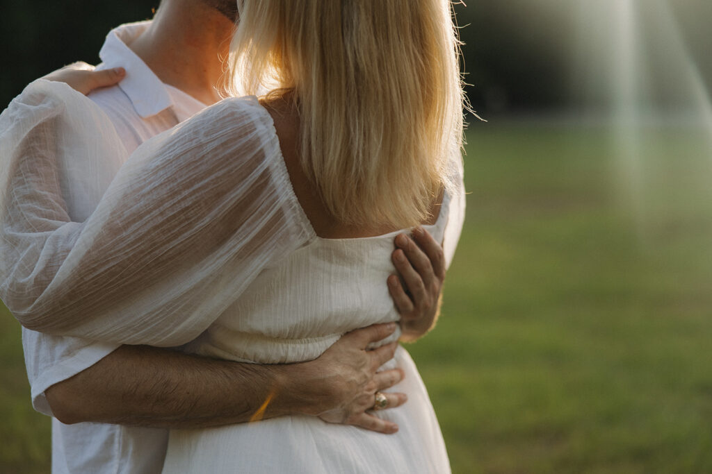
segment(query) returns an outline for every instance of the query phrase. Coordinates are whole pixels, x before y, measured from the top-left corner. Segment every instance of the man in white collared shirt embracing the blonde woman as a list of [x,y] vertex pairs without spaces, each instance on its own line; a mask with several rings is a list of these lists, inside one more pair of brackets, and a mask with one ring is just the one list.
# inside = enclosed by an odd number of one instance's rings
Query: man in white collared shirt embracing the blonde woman
[[[128,152],[219,100],[219,58],[229,45],[235,14],[234,0],[164,0],[152,23],[122,26],[109,34],[100,53],[103,67],[124,68],[125,79],[90,98],[108,114]],[[108,174],[121,165],[101,163]],[[424,254],[412,242],[402,247],[420,271]],[[418,289],[422,281],[395,258],[400,256],[394,255],[394,263],[415,304],[399,285],[392,286],[394,299],[402,313],[426,319],[436,311],[440,286]],[[419,294],[429,298],[419,299]],[[392,346],[365,350],[367,343],[391,332],[385,326],[355,331],[318,360],[288,367],[207,360],[30,330],[23,330],[23,345],[33,405],[56,416],[54,473],[155,473],[163,463],[167,428],[248,421],[274,387],[282,395],[266,416],[320,415],[394,432],[393,424],[364,413],[375,391],[402,377],[399,371],[374,376],[392,356]],[[401,394],[389,394],[390,406],[404,401]]]

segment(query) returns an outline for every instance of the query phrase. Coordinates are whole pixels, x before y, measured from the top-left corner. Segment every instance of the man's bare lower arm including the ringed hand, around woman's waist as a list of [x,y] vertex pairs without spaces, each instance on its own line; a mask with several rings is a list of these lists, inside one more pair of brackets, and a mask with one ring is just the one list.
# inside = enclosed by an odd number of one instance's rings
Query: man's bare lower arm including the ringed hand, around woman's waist
[[[125,345],[45,394],[63,423],[98,421],[155,428],[203,428],[289,414],[394,433],[396,424],[365,411],[375,392],[403,378],[377,372],[396,343],[367,350],[392,335],[394,324],[344,335],[317,359],[283,365],[212,360],[171,350]],[[406,400],[389,393],[389,406]]]

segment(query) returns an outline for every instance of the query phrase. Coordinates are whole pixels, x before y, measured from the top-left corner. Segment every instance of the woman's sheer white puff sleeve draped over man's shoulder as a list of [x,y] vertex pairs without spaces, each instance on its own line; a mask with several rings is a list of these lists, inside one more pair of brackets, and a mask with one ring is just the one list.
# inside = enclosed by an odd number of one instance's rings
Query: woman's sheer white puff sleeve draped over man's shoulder
[[0,116],[0,297],[26,328],[180,345],[314,237],[254,97],[147,141],[72,222],[58,167],[125,153],[113,130],[89,99],[44,80]]

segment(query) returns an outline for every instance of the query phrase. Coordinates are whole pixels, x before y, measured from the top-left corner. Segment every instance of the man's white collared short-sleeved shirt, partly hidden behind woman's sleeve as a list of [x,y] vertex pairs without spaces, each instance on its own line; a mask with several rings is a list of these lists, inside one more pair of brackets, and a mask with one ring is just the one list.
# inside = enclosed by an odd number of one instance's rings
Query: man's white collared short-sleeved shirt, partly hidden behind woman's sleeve
[[[127,155],[147,139],[205,107],[197,99],[161,82],[128,48],[127,44],[148,26],[150,21],[132,23],[108,34],[99,53],[103,61],[100,68],[123,67],[126,77],[119,85],[89,96],[111,119]],[[105,160],[98,163],[97,168],[87,170],[85,179],[103,183],[105,190],[122,164]],[[67,204],[83,220],[91,214],[101,195],[92,198],[85,196]],[[117,344],[45,335],[23,328],[23,349],[35,409],[51,416],[45,390],[94,365],[117,347]],[[168,431],[164,429],[98,423],[65,425],[53,419],[52,472],[156,473],[163,465],[167,437]]]

